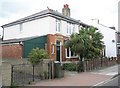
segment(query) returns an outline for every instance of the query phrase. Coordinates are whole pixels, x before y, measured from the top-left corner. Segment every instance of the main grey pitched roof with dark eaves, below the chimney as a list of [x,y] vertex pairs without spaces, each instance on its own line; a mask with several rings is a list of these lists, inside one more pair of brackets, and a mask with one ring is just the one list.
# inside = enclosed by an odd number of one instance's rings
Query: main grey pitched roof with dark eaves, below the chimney
[[43,10],[41,12],[35,13],[33,15],[27,16],[25,18],[22,18],[22,19],[14,21],[14,22],[2,25],[1,27],[2,28],[9,27],[9,26],[13,26],[13,25],[16,25],[16,24],[32,21],[32,20],[47,17],[47,16],[51,16],[51,17],[54,17],[54,18],[57,18],[57,19],[65,20],[65,21],[68,21],[68,22],[71,22],[71,23],[77,23],[77,24],[80,24],[80,25],[83,25],[83,26],[89,26],[85,23],[80,22],[79,20],[73,19],[73,18],[68,17],[68,16],[64,16],[63,14],[61,14],[61,13],[55,11],[55,10],[46,9],[46,10]]

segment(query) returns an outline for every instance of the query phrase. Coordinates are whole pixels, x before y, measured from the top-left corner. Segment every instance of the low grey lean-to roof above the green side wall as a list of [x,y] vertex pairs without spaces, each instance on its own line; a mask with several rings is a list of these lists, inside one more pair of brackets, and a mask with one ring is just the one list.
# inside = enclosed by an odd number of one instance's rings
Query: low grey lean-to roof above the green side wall
[[27,37],[27,38],[18,38],[18,39],[10,39],[10,40],[3,40],[3,41],[0,41],[0,44],[19,43],[19,42],[31,40],[31,39],[38,38],[38,37],[40,37],[40,36]]

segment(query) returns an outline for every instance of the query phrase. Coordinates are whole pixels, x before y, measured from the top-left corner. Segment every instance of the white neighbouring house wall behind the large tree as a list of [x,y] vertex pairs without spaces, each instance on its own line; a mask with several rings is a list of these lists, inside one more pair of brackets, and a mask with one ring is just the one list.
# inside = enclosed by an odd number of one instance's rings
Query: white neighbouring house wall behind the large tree
[[103,56],[108,58],[117,57],[117,47],[116,47],[117,40],[116,40],[115,27],[107,27],[99,23],[98,19],[97,22],[92,20],[91,25],[98,28],[98,31],[100,31],[104,36],[103,42],[105,48],[103,49]]

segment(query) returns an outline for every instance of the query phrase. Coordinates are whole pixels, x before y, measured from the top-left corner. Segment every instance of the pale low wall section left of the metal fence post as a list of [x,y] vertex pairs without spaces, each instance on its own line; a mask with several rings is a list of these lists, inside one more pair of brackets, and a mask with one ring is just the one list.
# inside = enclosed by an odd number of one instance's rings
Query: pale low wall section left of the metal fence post
[[11,85],[11,64],[8,62],[2,63],[2,85],[10,86]]

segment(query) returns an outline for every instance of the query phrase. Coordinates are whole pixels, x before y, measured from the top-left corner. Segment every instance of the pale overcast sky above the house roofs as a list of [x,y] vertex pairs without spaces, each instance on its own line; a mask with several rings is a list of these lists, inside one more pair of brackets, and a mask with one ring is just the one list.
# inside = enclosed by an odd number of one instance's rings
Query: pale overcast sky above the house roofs
[[87,24],[91,19],[99,19],[101,24],[115,26],[117,30],[118,2],[119,0],[0,0],[0,26],[47,7],[62,13],[63,5],[68,4],[72,18]]

